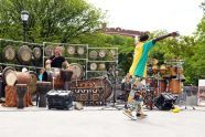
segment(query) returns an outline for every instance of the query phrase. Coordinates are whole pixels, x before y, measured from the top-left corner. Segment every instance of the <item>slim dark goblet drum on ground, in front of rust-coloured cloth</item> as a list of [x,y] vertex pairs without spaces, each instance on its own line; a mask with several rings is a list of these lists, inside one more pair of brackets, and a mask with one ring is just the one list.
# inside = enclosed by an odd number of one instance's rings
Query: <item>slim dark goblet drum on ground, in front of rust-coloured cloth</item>
[[23,108],[23,97],[25,95],[25,92],[28,91],[26,84],[17,84],[17,95],[18,95],[18,108]]

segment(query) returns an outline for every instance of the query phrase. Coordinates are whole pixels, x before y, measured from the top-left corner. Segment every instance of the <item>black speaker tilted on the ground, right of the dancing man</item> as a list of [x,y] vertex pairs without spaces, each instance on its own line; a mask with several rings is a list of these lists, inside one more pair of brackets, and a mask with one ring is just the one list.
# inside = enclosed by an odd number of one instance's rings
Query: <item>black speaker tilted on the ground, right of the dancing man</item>
[[171,93],[161,93],[155,99],[154,105],[161,110],[170,110],[173,108],[176,97]]

